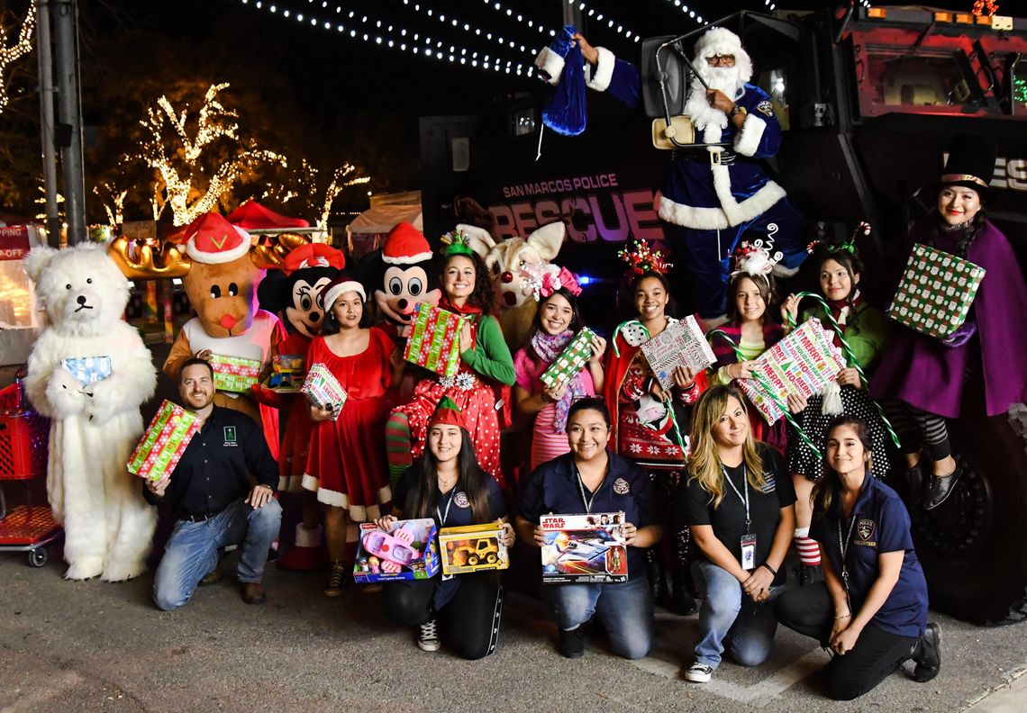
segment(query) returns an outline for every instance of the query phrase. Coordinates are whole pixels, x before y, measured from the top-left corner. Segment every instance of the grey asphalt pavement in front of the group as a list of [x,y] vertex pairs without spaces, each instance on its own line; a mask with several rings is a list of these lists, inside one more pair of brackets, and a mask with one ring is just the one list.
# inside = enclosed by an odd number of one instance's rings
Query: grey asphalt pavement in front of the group
[[[55,552],[54,554],[59,554]],[[65,582],[51,560],[31,568],[0,554],[0,711],[951,711],[1025,710],[1027,625],[981,629],[934,616],[943,671],[892,675],[862,699],[832,703],[816,670],[828,656],[778,630],[757,669],[725,662],[707,684],[681,677],[695,617],[657,609],[653,651],[623,661],[594,635],[584,658],[555,650],[545,606],[507,597],[497,651],[464,662],[417,648],[389,623],[380,594],[320,592],[322,572],[268,566],[268,601],[248,606],[227,575],[173,612],[149,600],[152,576],[123,584]],[[1011,687],[1012,683],[1012,687]],[[991,697],[995,694],[994,697]],[[1003,701],[1004,699],[1004,701]],[[977,704],[977,705],[974,705]],[[1004,707],[1003,707],[1004,706]]]

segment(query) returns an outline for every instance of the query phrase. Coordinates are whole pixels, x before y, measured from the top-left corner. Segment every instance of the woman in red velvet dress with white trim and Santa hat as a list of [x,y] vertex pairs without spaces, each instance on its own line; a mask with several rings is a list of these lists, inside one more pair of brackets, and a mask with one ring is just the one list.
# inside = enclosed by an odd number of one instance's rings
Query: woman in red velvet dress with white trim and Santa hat
[[345,389],[346,401],[334,421],[331,407],[311,404],[314,426],[303,486],[325,505],[325,539],[332,560],[325,594],[334,597],[347,579],[347,539],[356,541],[355,529],[347,525],[381,517],[381,506],[392,500],[382,433],[403,362],[383,329],[360,326],[367,298],[359,282],[343,275],[329,283],[322,295],[325,326],[310,344],[307,367],[325,364]]

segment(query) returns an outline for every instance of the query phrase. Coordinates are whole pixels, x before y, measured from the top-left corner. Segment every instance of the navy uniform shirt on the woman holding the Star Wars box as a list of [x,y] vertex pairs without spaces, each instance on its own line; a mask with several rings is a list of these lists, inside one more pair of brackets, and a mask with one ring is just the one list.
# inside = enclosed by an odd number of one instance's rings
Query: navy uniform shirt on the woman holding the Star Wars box
[[[521,499],[521,517],[538,524],[542,515],[577,515],[582,513],[623,512],[624,520],[636,527],[659,524],[659,503],[656,488],[641,468],[617,455],[609,448],[606,478],[595,491],[592,508],[581,498],[574,453],[555,458],[535,469]],[[585,497],[592,498],[585,489]],[[627,547],[627,579],[645,575],[645,550]]]

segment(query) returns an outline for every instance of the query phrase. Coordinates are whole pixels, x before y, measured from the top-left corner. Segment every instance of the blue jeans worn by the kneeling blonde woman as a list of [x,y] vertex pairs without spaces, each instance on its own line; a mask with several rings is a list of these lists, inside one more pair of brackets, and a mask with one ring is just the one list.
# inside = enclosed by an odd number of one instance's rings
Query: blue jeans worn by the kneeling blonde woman
[[739,666],[759,666],[766,661],[777,631],[771,602],[779,588],[771,590],[769,600],[757,603],[741,591],[731,572],[706,560],[692,563],[692,579],[702,596],[695,663],[717,668],[725,639],[728,652]]

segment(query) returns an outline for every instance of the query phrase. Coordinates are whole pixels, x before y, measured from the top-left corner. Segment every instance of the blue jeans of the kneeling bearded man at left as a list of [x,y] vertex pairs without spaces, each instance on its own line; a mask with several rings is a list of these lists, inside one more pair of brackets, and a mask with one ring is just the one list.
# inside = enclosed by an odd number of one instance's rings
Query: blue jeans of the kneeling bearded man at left
[[164,611],[189,601],[199,581],[218,566],[218,549],[226,545],[242,545],[239,582],[260,582],[280,524],[281,506],[273,499],[259,510],[237,500],[210,520],[179,520],[153,578],[153,601]]

